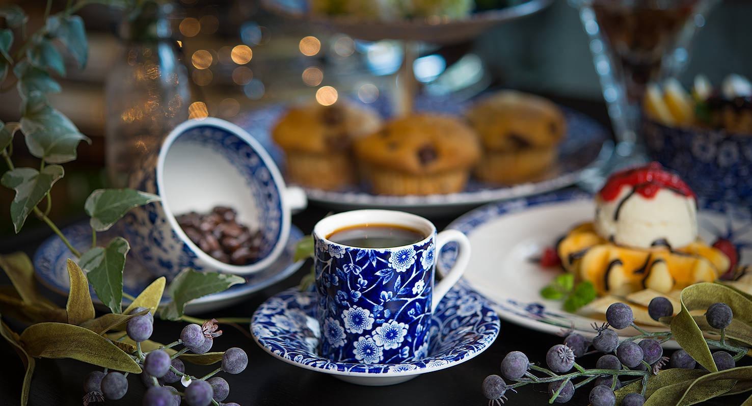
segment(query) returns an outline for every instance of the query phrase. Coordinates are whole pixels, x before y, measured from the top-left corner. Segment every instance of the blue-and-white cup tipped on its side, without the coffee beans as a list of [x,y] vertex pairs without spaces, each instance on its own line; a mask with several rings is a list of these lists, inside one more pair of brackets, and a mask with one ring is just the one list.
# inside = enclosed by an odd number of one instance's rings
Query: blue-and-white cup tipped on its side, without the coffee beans
[[[190,120],[177,126],[158,156],[141,164],[130,186],[162,201],[129,211],[131,253],[156,276],[171,280],[181,269],[251,274],[273,263],[290,234],[290,211],[305,207],[301,189],[287,189],[261,144],[224,120]],[[250,265],[229,265],[202,251],[175,216],[215,206],[235,209],[238,223],[262,234],[260,256]]]

